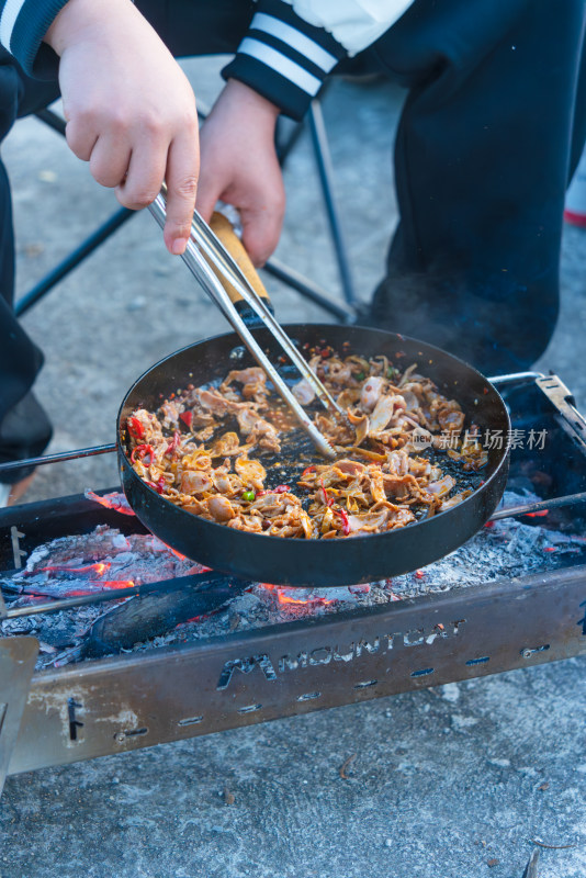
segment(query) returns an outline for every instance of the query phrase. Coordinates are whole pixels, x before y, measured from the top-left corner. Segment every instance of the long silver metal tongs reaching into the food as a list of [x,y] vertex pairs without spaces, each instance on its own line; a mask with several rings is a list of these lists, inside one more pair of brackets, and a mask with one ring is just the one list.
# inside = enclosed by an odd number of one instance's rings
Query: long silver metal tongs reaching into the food
[[[162,185],[161,191],[149,206],[150,213],[162,228],[167,217],[167,187]],[[277,369],[272,365],[266,353],[261,350],[255,337],[244,323],[243,318],[235,308],[226,289],[217,277],[218,274],[236,290],[246,304],[258,315],[267,329],[289,357],[293,364],[298,369],[303,378],[311,384],[315,395],[322,405],[336,416],[345,413],[338,406],[330,393],[319,381],[315,372],[309,369],[308,363],[298,352],[293,341],[289,338],[283,327],[275,320],[270,309],[240,270],[222,241],[212,232],[207,223],[200,216],[198,211],[193,214],[191,235],[184,254],[181,257],[193,277],[203,286],[212,302],[217,305],[234,330],[240,336],[244,344],[264,370],[267,376],[272,382],[274,389],[284,403],[293,412],[295,418],[305,432],[311,437],[315,447],[327,458],[334,458],[335,451],[326,437],[319,432],[315,424],[309,419],[304,408],[291,393]],[[217,274],[216,274],[217,272]]]

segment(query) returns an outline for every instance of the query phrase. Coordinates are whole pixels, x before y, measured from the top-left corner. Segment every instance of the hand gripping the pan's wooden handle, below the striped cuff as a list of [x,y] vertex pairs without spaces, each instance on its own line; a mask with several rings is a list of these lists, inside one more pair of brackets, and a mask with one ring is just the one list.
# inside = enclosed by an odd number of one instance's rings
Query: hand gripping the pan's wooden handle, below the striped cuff
[[263,266],[279,243],[285,192],[274,149],[279,108],[229,79],[200,132],[196,209],[209,222],[218,200],[238,209],[243,244]]

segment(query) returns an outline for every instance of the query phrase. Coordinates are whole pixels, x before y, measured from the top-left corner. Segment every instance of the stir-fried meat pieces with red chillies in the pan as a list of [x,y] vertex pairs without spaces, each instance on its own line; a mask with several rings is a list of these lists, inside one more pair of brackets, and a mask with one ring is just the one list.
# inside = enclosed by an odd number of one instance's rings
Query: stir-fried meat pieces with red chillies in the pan
[[[464,430],[458,402],[417,364],[401,372],[386,357],[338,357],[330,349],[315,352],[309,364],[346,413],[315,409],[316,426],[338,454],[334,462],[301,463],[289,483],[274,483],[280,464],[266,469],[262,458],[274,461],[296,425],[252,367],[229,372],[217,387],[189,385],[157,413],[135,410],[126,425],[134,470],[193,515],[272,537],[382,533],[471,493],[459,489],[438,457],[471,473],[484,466],[486,452],[475,428]],[[306,381],[292,390],[312,406]]]

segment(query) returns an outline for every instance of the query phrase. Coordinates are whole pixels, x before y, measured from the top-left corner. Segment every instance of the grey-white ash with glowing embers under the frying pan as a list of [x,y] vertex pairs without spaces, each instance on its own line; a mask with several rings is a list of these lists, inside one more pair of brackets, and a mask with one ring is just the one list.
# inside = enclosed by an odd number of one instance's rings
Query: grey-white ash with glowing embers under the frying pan
[[[529,492],[506,492],[503,506],[538,499]],[[169,646],[586,563],[585,537],[551,530],[537,524],[542,520],[539,518],[529,520],[533,524],[514,518],[489,522],[441,561],[393,579],[322,590],[256,583],[210,616],[178,624],[161,637],[135,643],[128,651]],[[113,589],[112,603],[10,619],[1,623],[0,634],[36,637],[41,642],[37,668],[77,661],[76,646],[83,642],[92,623],[104,611],[124,603],[124,599],[115,599],[116,587],[161,582],[202,570],[156,537],[125,537],[106,526],[89,534],[53,540],[31,554],[24,571],[2,581],[7,603],[13,598],[9,606],[92,594],[104,588]]]

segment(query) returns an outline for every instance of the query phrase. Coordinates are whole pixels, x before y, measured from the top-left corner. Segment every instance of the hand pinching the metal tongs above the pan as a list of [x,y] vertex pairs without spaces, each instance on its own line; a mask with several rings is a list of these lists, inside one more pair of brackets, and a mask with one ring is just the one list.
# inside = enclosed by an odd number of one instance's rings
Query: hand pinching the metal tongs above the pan
[[165,243],[185,249],[199,132],[189,80],[131,0],[69,0],[45,35],[59,63],[67,143],[94,179],[139,210],[167,181]]

